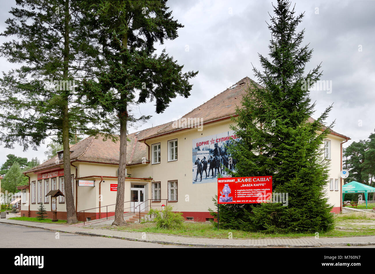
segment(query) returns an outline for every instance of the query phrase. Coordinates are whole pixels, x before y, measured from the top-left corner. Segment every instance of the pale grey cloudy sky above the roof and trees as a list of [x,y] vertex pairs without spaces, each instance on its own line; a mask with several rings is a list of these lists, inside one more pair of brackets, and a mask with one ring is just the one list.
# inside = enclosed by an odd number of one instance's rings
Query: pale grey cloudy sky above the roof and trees
[[[276,1],[273,1],[274,3]],[[374,131],[375,103],[375,1],[292,1],[297,13],[305,12],[300,29],[305,28],[304,43],[314,49],[306,69],[322,62],[322,80],[332,81],[331,91],[311,91],[318,117],[333,103],[328,121],[336,120],[333,130],[352,141],[368,138]],[[14,1],[1,0],[0,31],[5,29],[8,11]],[[184,25],[179,37],[157,47],[166,49],[184,70],[199,70],[191,80],[189,98],[175,98],[164,113],[154,113],[153,103],[142,104],[135,111],[153,117],[130,133],[177,119],[248,76],[254,80],[252,64],[260,67],[258,53],[268,54],[271,38],[266,21],[273,14],[272,1],[259,0],[170,0],[175,19]],[[0,37],[0,43],[5,41]],[[0,71],[14,65],[0,60]],[[45,159],[46,145],[26,152],[0,148],[0,165],[9,153]]]

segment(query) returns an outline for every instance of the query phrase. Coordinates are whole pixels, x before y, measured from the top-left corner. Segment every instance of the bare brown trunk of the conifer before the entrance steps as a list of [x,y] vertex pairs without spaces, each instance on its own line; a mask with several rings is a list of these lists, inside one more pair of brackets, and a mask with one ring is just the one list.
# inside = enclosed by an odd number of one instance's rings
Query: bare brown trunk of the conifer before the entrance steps
[[[127,48],[127,35],[124,34],[122,43],[124,48]],[[126,94],[121,94],[121,102],[124,104],[123,111],[118,113],[120,119],[120,161],[118,162],[117,175],[117,195],[115,207],[115,220],[112,225],[124,225],[124,192],[125,192],[125,178],[126,178],[126,123],[127,123],[127,104]]]

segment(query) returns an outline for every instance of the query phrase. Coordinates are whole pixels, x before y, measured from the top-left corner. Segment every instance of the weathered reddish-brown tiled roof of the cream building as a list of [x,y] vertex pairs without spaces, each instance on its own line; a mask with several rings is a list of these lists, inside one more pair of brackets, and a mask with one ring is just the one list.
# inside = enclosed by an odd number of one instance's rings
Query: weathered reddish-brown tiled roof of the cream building
[[[246,89],[250,83],[251,79],[249,79],[249,77],[241,79],[231,88],[227,88],[225,91],[182,116],[182,118],[201,118],[204,123],[207,123],[233,116],[236,112],[236,107],[241,106],[242,97],[246,94]],[[312,121],[314,121],[314,119],[310,118],[308,122]],[[143,143],[145,139],[181,130],[181,128],[176,128],[172,125],[173,122],[168,122],[129,134],[127,138],[129,138],[130,143],[127,142],[126,147],[127,164],[139,164],[142,162],[142,158],[148,158],[147,146]],[[346,136],[332,130],[331,133],[347,138]],[[117,142],[114,143],[111,140],[103,141],[102,137],[88,137],[71,146],[70,150],[73,151],[71,152],[71,161],[118,164],[120,156],[120,140],[118,138]],[[58,164],[62,165],[63,160],[58,160],[57,156],[55,156],[27,172],[41,170]]]

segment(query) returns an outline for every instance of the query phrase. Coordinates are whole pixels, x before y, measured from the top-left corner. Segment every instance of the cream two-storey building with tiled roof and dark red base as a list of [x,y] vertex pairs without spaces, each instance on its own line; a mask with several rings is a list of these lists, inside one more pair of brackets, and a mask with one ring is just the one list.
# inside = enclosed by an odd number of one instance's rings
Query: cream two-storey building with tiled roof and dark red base
[[[233,123],[231,117],[236,106],[241,104],[248,81],[249,78],[245,77],[232,88],[182,116],[179,121],[128,135],[126,172],[129,177],[125,181],[125,212],[148,211],[150,207],[160,208],[162,204],[168,204],[175,211],[182,212],[187,220],[206,221],[212,218],[208,208],[214,209],[212,197],[217,194],[217,176],[212,177],[215,171],[210,170],[212,162],[207,164],[206,169],[202,165],[202,177],[200,173],[197,176],[197,165],[204,157],[208,160],[215,153],[224,155],[221,156],[223,165],[228,162],[223,144],[237,138],[229,125]],[[342,169],[342,143],[348,139],[331,131],[325,143],[324,157],[330,159],[330,182],[327,182],[326,194],[335,213],[341,211],[342,180],[339,173]],[[216,143],[219,148],[216,148]],[[114,143],[103,141],[102,137],[88,137],[70,149],[70,183],[79,219],[113,215],[119,141]],[[228,167],[233,166],[228,164]],[[45,195],[52,189],[63,191],[62,152],[25,174],[30,177],[30,187],[23,186],[22,189],[28,198],[23,199],[21,216],[35,216],[38,203],[43,202],[49,211],[48,217],[51,217],[51,198]],[[85,217],[80,212],[83,210]],[[66,218],[64,197],[58,198],[57,212],[58,219]]]

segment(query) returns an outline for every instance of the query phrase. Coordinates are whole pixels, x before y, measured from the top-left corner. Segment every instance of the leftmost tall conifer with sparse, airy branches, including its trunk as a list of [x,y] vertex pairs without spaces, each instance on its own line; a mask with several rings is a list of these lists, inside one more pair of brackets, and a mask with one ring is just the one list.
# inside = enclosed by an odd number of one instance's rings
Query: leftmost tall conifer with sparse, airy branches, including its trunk
[[[0,141],[13,148],[37,149],[48,137],[63,144],[64,180],[71,181],[69,138],[76,133],[113,133],[100,106],[80,94],[83,77],[92,77],[98,63],[88,61],[97,45],[88,39],[79,1],[17,0],[1,36],[1,56],[20,68],[0,78]],[[17,37],[17,40],[12,40]],[[65,184],[68,223],[77,222],[72,185]]]

